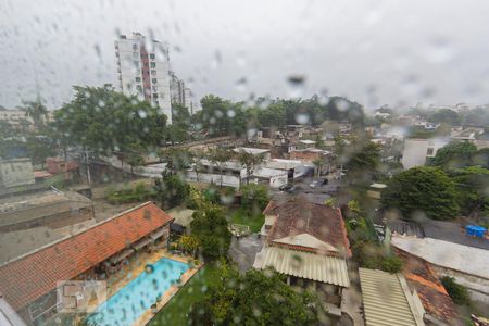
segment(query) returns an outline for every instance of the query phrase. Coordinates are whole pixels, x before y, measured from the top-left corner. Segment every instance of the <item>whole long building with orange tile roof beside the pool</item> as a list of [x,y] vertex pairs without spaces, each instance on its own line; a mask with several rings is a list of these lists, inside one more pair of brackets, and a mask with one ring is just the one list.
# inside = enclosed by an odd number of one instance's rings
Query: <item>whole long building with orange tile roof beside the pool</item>
[[146,202],[0,265],[0,292],[28,325],[57,313],[58,283],[105,279],[125,260],[166,246],[173,218]]

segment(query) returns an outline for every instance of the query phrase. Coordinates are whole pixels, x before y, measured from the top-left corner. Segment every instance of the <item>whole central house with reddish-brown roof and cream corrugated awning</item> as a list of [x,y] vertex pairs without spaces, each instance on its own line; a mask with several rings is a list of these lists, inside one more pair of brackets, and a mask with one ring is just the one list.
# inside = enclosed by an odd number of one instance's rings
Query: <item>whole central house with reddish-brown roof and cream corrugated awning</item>
[[272,200],[263,214],[266,241],[253,267],[272,267],[289,285],[318,289],[338,311],[351,258],[341,211],[298,196]]

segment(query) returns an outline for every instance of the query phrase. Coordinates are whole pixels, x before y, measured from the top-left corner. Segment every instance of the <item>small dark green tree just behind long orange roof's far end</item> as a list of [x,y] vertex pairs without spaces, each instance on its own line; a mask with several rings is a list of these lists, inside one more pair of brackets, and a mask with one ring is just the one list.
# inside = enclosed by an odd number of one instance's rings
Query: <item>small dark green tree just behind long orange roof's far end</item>
[[172,209],[187,200],[190,186],[179,175],[163,172],[162,178],[154,180],[154,191],[161,206]]

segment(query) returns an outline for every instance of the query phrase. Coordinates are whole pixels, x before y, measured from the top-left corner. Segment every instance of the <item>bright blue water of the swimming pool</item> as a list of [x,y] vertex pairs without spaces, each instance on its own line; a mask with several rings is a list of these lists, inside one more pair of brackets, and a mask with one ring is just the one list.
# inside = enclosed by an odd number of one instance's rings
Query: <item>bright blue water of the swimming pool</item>
[[185,263],[161,259],[153,264],[152,273],[141,273],[97,308],[90,322],[97,326],[133,325],[187,269]]

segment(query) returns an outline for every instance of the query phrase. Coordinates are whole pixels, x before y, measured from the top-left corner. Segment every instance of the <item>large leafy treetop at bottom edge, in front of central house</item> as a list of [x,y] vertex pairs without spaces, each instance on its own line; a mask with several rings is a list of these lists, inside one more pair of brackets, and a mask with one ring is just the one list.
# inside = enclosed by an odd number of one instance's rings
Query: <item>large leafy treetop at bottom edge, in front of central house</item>
[[326,323],[317,297],[298,292],[273,271],[250,269],[244,275],[230,265],[220,268],[220,280],[192,305],[191,325],[317,325]]

